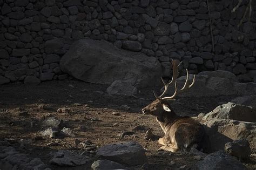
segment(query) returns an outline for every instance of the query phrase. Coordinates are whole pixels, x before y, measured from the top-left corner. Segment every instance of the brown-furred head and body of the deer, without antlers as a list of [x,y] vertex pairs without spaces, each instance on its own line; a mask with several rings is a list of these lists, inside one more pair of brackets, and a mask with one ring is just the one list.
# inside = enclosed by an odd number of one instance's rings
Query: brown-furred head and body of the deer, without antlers
[[[170,108],[165,111],[163,106]],[[197,148],[199,151],[208,152],[204,144],[207,139],[204,126],[190,117],[177,115],[166,100],[156,99],[142,109],[144,114],[152,114],[163,129],[165,135],[158,140],[164,145],[160,150],[178,152]],[[206,145],[205,145],[206,146]]]

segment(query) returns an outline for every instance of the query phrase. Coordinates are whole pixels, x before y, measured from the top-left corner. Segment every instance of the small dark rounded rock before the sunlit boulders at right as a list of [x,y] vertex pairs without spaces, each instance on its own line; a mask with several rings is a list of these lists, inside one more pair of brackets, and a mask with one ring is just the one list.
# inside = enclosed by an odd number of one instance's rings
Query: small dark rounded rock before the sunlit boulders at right
[[225,144],[225,152],[231,156],[237,157],[240,161],[250,158],[251,148],[247,140],[235,140]]

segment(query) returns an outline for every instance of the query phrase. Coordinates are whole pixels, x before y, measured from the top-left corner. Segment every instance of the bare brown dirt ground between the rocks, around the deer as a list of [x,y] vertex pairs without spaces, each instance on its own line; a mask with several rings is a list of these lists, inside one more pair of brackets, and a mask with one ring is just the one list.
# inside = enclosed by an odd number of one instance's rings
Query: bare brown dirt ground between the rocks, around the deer
[[[190,169],[197,163],[198,160],[194,155],[157,151],[160,144],[157,140],[145,140],[145,132],[136,132],[121,139],[120,134],[143,124],[149,126],[159,137],[164,135],[154,117],[145,117],[140,112],[144,106],[154,100],[152,89],[140,90],[136,97],[110,96],[105,92],[106,89],[105,85],[95,85],[75,79],[46,81],[35,86],[21,83],[2,85],[0,86],[0,140],[14,139],[9,141],[12,141],[11,144],[19,152],[41,158],[51,169],[76,169],[49,164],[50,153],[59,149],[78,153],[86,151],[83,147],[75,145],[75,139],[91,141],[96,147],[113,142],[138,141],[147,149],[150,169],[176,169],[184,165],[186,165],[185,169]],[[172,106],[179,115],[196,116],[201,112],[208,113],[219,104],[233,98],[224,96],[179,98]],[[42,104],[49,108],[39,108]],[[69,107],[71,112],[58,113],[57,109],[61,107]],[[21,110],[28,111],[28,114],[20,115]],[[113,112],[118,112],[119,115],[113,115]],[[42,121],[49,115],[63,119],[65,127],[71,128],[76,137],[41,138],[39,132],[45,129],[42,127]],[[23,148],[19,147],[20,139],[28,141]],[[92,160],[87,166],[88,169],[91,163],[97,160],[93,147],[89,150],[91,151],[86,152],[89,152]],[[250,169],[256,168],[255,161],[245,162],[245,165]]]

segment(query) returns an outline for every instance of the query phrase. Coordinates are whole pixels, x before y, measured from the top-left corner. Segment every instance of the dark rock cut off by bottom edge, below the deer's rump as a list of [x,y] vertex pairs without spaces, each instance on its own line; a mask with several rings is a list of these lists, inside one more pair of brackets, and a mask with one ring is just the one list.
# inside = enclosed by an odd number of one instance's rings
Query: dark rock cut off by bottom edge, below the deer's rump
[[205,157],[204,160],[199,161],[197,165],[199,170],[213,170],[213,169],[246,169],[241,162],[234,157],[227,155],[224,151],[211,153]]

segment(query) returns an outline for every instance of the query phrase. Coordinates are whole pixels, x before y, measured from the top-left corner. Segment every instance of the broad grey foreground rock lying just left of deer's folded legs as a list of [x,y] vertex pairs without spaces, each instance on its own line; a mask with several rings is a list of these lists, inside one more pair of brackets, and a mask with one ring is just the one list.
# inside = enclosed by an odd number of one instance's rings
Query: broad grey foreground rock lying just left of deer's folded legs
[[143,147],[134,141],[100,147],[97,156],[129,166],[143,165],[147,162]]

